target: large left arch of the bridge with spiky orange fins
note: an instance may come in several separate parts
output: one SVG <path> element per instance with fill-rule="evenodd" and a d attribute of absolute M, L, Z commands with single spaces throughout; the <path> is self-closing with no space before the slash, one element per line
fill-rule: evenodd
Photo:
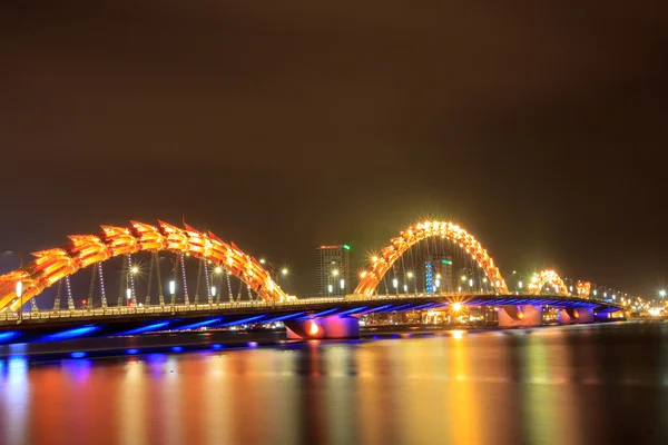
<path fill-rule="evenodd" d="M 90 293 L 97 281 L 99 293 L 101 294 L 101 307 L 108 306 L 105 291 L 105 281 L 101 264 L 115 257 L 124 257 L 124 269 L 128 271 L 128 293 L 130 294 L 129 304 L 137 305 L 135 295 L 135 278 L 138 268 L 132 266 L 131 255 L 140 251 L 150 253 L 151 273 L 155 268 L 157 273 L 158 297 L 163 304 L 161 279 L 159 277 L 160 267 L 156 258 L 158 253 L 176 254 L 176 264 L 173 269 L 174 280 L 178 275 L 183 278 L 183 289 L 185 291 L 184 303 L 189 304 L 188 287 L 186 281 L 186 257 L 200 259 L 202 269 L 198 270 L 198 288 L 200 277 L 204 275 L 208 283 L 210 267 L 217 267 L 218 271 L 225 268 L 227 274 L 239 278 L 248 288 L 248 294 L 256 293 L 264 301 L 282 303 L 287 301 L 288 296 L 274 283 L 267 270 L 252 256 L 244 254 L 234 243 L 227 244 L 216 237 L 214 234 L 203 234 L 193 227 L 185 225 L 185 229 L 159 221 L 159 226 L 150 226 L 143 222 L 131 221 L 131 227 L 101 226 L 102 233 L 99 235 L 72 235 L 70 243 L 66 246 L 41 250 L 32 254 L 36 259 L 22 266 L 18 270 L 0 276 L 0 312 L 16 310 L 22 307 L 28 300 L 32 300 L 35 307 L 35 297 L 40 295 L 46 288 L 56 283 L 66 283 L 68 294 L 68 306 L 71 308 L 71 286 L 69 277 L 75 273 L 91 267 Z M 180 270 L 178 270 L 180 269 Z M 153 279 L 153 275 L 149 276 Z M 150 283 L 150 281 L 149 281 Z M 150 290 L 150 289 L 149 289 Z M 174 297 L 175 289 L 171 289 Z M 197 295 L 198 297 L 197 289 Z M 210 286 L 206 286 L 207 303 L 213 303 Z M 150 295 L 148 295 L 150 296 Z M 59 298 L 57 298 L 59 303 Z M 117 303 L 124 304 L 121 298 Z M 59 307 L 55 307 L 58 309 Z"/>

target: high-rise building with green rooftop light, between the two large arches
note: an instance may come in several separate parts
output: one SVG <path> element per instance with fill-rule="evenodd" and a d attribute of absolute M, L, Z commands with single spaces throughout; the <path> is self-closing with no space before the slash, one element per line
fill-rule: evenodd
<path fill-rule="evenodd" d="M 340 297 L 350 294 L 350 253 L 346 244 L 316 249 L 316 295 Z"/>

